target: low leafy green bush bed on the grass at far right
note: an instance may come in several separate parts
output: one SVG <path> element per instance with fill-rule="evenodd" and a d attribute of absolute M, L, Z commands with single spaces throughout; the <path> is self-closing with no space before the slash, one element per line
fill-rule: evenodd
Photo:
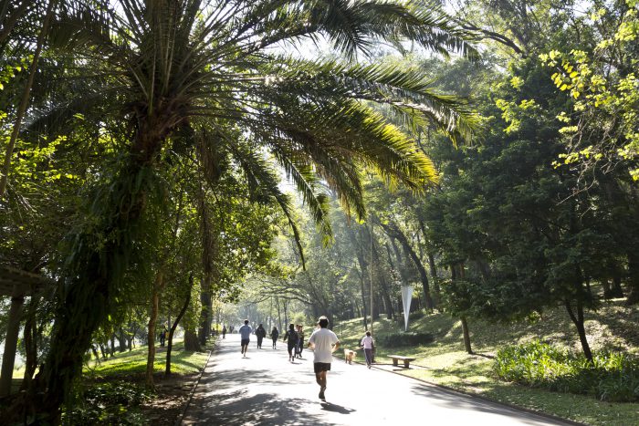
<path fill-rule="evenodd" d="M 493 365 L 500 379 L 600 400 L 639 400 L 639 359 L 601 353 L 592 363 L 583 355 L 539 341 L 499 349 Z"/>

